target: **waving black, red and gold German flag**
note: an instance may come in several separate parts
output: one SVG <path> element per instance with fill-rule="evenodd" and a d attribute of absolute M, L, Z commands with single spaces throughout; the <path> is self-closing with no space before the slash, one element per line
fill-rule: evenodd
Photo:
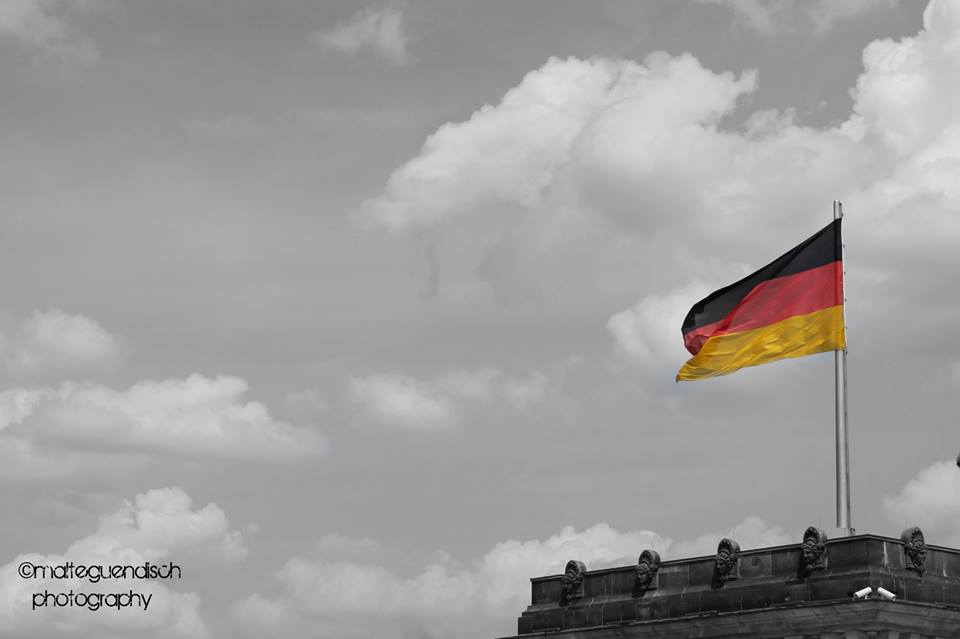
<path fill-rule="evenodd" d="M 693 305 L 677 381 L 846 348 L 840 220 Z"/>

